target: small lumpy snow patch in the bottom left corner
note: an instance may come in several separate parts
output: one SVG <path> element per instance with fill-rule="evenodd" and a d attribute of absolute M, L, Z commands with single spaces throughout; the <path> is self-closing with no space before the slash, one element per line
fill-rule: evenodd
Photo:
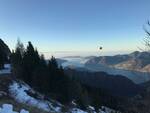
<path fill-rule="evenodd" d="M 0 107 L 0 113 L 19 113 L 19 112 L 13 111 L 13 106 L 11 104 L 3 104 L 2 108 Z M 29 113 L 29 112 L 22 109 L 20 113 Z"/>

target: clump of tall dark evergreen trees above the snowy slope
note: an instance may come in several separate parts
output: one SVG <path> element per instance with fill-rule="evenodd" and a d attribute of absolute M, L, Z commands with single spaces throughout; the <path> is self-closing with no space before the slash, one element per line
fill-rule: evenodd
<path fill-rule="evenodd" d="M 53 56 L 46 63 L 44 56 L 39 55 L 31 42 L 24 49 L 23 44 L 18 41 L 16 50 L 11 54 L 11 64 L 14 77 L 22 79 L 39 92 L 63 103 L 77 98 L 77 83 L 64 73 Z"/>

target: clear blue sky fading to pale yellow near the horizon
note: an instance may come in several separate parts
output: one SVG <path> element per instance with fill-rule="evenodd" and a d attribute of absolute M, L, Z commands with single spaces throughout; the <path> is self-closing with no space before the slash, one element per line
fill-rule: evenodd
<path fill-rule="evenodd" d="M 149 19 L 150 0 L 0 0 L 0 38 L 48 57 L 138 50 Z"/>

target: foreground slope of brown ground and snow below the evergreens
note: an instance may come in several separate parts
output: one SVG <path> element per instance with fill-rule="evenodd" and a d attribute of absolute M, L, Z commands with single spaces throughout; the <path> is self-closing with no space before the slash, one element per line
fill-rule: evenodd
<path fill-rule="evenodd" d="M 81 110 L 74 103 L 72 107 L 62 105 L 56 100 L 45 99 L 44 95 L 34 91 L 30 86 L 20 80 L 15 80 L 11 75 L 0 76 L 0 110 L 3 107 L 14 107 L 19 113 L 96 113 L 92 106 L 88 111 Z M 24 109 L 24 110 L 23 110 Z M 4 109 L 3 109 L 4 110 Z M 10 109 L 11 110 L 11 109 Z M 115 113 L 115 110 L 102 106 L 97 113 Z M 23 113 L 23 112 L 20 112 Z M 120 113 L 120 112 L 118 112 Z"/>

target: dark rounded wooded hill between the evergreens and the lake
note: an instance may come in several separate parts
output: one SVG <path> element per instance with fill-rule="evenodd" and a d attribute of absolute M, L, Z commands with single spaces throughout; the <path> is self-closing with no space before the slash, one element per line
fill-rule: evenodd
<path fill-rule="evenodd" d="M 105 89 L 116 96 L 134 96 L 143 91 L 142 87 L 120 75 L 114 76 L 105 72 L 85 72 L 72 69 L 66 70 L 66 73 L 85 85 Z"/>

